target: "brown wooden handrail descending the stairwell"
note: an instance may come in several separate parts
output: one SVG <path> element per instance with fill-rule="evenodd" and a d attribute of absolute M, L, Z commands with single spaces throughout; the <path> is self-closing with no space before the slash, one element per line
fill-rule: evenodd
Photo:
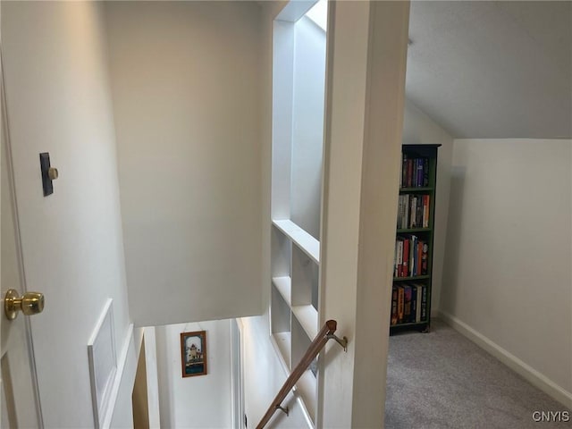
<path fill-rule="evenodd" d="M 260 423 L 257 425 L 257 429 L 262 429 L 265 425 L 270 421 L 270 418 L 273 416 L 274 412 L 277 409 L 282 409 L 281 405 L 282 400 L 286 398 L 290 390 L 298 383 L 304 371 L 307 370 L 307 367 L 310 366 L 312 361 L 318 356 L 318 353 L 321 349 L 324 348 L 325 343 L 328 342 L 331 338 L 334 338 L 333 332 L 336 332 L 338 323 L 335 320 L 328 320 L 320 332 L 315 336 L 314 341 L 310 344 L 310 347 L 306 350 L 306 354 L 301 358 L 299 364 L 294 368 L 294 371 L 291 372 L 290 376 L 286 379 L 284 384 L 282 385 L 282 389 L 278 391 L 276 398 L 270 404 L 270 407 L 266 410 L 266 414 L 260 420 Z M 339 340 L 339 339 L 337 339 Z M 345 339 L 344 339 L 345 340 Z"/>

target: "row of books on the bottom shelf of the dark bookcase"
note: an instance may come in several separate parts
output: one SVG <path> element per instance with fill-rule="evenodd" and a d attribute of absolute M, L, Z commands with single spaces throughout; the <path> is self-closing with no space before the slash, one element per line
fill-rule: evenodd
<path fill-rule="evenodd" d="M 427 286 L 407 283 L 393 286 L 391 325 L 414 324 L 427 320 Z"/>

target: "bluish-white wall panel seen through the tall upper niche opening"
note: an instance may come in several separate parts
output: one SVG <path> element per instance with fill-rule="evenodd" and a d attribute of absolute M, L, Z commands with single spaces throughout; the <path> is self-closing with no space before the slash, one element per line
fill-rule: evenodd
<path fill-rule="evenodd" d="M 293 74 L 290 219 L 320 240 L 325 32 L 306 17 L 294 24 Z"/>

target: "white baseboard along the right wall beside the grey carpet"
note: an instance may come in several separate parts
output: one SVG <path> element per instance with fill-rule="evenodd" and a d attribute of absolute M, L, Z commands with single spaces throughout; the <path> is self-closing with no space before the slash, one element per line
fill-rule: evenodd
<path fill-rule="evenodd" d="M 572 393 L 563 389 L 554 383 L 544 374 L 536 371 L 532 366 L 527 365 L 518 357 L 509 351 L 502 349 L 501 346 L 485 337 L 482 333 L 475 331 L 468 324 L 462 322 L 454 315 L 450 315 L 443 311 L 437 311 L 437 317 L 443 322 L 449 324 L 455 331 L 461 333 L 470 341 L 475 342 L 477 346 L 490 353 L 493 357 L 499 359 L 504 365 L 509 366 L 517 374 L 520 374 L 529 383 L 536 386 L 544 393 L 550 395 L 554 400 L 558 400 L 564 407 L 572 409 Z"/>

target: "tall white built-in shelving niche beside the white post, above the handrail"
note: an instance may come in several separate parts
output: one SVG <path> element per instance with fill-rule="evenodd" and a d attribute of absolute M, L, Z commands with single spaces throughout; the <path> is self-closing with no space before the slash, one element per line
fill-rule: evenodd
<path fill-rule="evenodd" d="M 326 34 L 297 12 L 274 21 L 271 335 L 287 374 L 320 324 L 320 221 Z M 296 16 L 296 19 L 292 18 Z M 294 43 L 295 42 L 295 43 Z M 317 362 L 295 387 L 315 425 Z"/>

